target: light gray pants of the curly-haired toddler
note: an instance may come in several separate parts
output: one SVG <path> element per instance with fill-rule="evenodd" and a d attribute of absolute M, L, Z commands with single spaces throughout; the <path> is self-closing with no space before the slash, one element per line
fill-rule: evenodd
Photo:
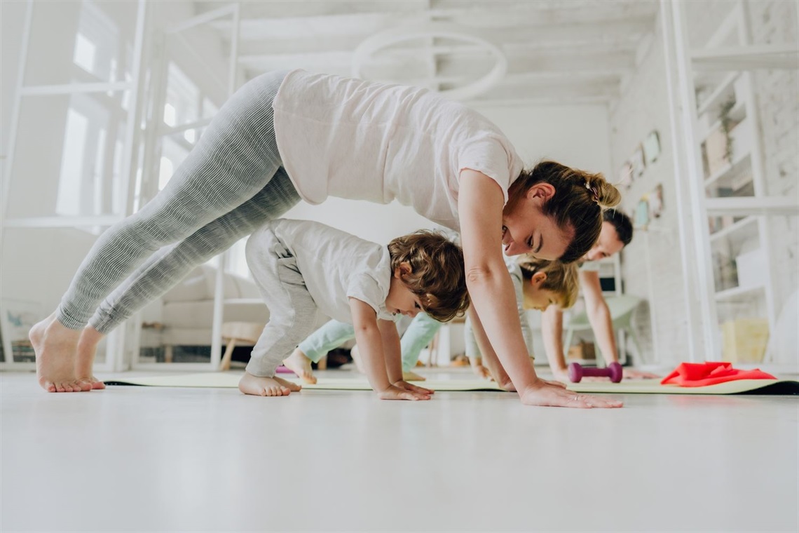
<path fill-rule="evenodd" d="M 247 372 L 272 377 L 297 344 L 315 329 L 316 303 L 305 287 L 296 258 L 272 229 L 258 229 L 247 241 L 247 265 L 269 308 L 269 321 L 252 348 Z"/>

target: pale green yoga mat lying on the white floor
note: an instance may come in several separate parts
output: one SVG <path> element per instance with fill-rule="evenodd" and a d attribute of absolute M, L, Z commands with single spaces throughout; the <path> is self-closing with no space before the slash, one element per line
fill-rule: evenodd
<path fill-rule="evenodd" d="M 217 387 L 237 388 L 241 374 L 232 372 L 202 372 L 198 374 L 130 377 L 124 380 L 109 380 L 106 385 L 145 385 L 149 387 Z M 284 378 L 285 379 L 285 378 Z M 292 381 L 300 383 L 299 378 Z M 368 391 L 371 390 L 363 378 L 319 378 L 314 385 L 300 383 L 304 390 Z M 415 382 L 435 391 L 499 391 L 495 384 L 486 380 L 427 380 Z M 799 381 L 795 380 L 735 380 L 707 387 L 678 387 L 662 385 L 659 380 L 624 380 L 573 383 L 568 386 L 574 392 L 610 392 L 616 394 L 795 394 L 799 395 Z"/>

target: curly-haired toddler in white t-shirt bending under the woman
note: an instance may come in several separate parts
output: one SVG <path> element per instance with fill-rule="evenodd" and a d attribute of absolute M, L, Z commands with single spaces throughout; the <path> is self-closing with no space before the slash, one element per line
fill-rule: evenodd
<path fill-rule="evenodd" d="M 320 308 L 331 318 L 352 322 L 369 384 L 381 399 L 430 399 L 432 391 L 402 379 L 394 320 L 424 311 L 446 321 L 466 311 L 458 245 L 419 231 L 387 247 L 317 222 L 278 219 L 252 233 L 246 255 L 271 316 L 252 348 L 241 392 L 291 392 L 287 381 L 273 377 L 275 369 L 312 332 Z"/>

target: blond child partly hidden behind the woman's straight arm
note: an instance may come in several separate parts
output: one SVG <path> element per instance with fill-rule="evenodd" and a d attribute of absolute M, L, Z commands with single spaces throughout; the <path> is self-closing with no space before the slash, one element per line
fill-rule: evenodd
<path fill-rule="evenodd" d="M 545 261 L 531 256 L 523 256 L 515 266 L 516 268 L 511 268 L 511 265 L 508 265 L 508 270 L 514 281 L 517 300 L 521 302 L 520 309 L 536 309 L 543 312 L 550 305 L 555 305 L 560 309 L 567 309 L 574 305 L 578 294 L 576 265 L 564 265 L 560 261 Z M 524 329 L 524 326 L 527 325 L 527 317 L 520 311 L 519 318 L 522 320 Z M 472 370 L 478 376 L 489 377 L 490 372 L 482 365 L 480 349 L 475 342 L 475 332 L 471 327 L 471 320 L 467 319 L 463 333 L 466 337 L 466 356 Z M 527 350 L 532 359 L 531 344 L 531 342 L 527 343 Z M 496 359 L 493 353 L 489 354 L 489 357 L 491 356 Z"/>

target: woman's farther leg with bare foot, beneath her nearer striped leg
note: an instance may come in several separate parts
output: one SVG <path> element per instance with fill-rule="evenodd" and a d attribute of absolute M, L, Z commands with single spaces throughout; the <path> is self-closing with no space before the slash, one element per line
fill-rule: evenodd
<path fill-rule="evenodd" d="M 300 195 L 281 167 L 264 189 L 244 204 L 203 226 L 184 241 L 158 250 L 149 257 L 103 301 L 89 320 L 89 327 L 81 333 L 75 368 L 78 378 L 91 381 L 93 388 L 100 388 L 100 382 L 92 375 L 92 364 L 97 343 L 103 336 L 172 288 L 197 265 L 229 249 L 239 239 L 264 222 L 280 217 L 299 201 Z"/>

